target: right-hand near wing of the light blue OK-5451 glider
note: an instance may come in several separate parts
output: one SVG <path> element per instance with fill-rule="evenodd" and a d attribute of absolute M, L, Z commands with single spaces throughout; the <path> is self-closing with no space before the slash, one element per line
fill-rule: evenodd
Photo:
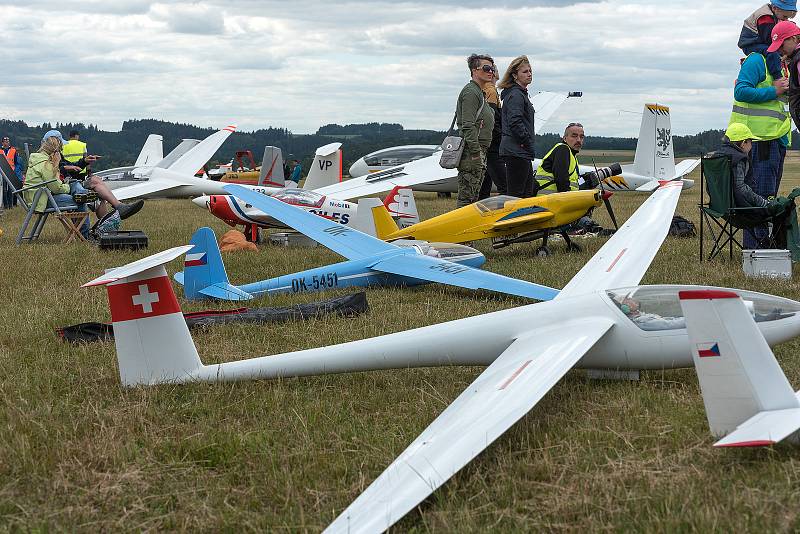
<path fill-rule="evenodd" d="M 475 269 L 440 258 L 421 254 L 405 254 L 379 260 L 371 269 L 400 276 L 410 276 L 429 282 L 439 282 L 468 289 L 488 289 L 520 297 L 552 300 L 558 290 L 525 280 L 509 278 L 482 269 Z"/>

